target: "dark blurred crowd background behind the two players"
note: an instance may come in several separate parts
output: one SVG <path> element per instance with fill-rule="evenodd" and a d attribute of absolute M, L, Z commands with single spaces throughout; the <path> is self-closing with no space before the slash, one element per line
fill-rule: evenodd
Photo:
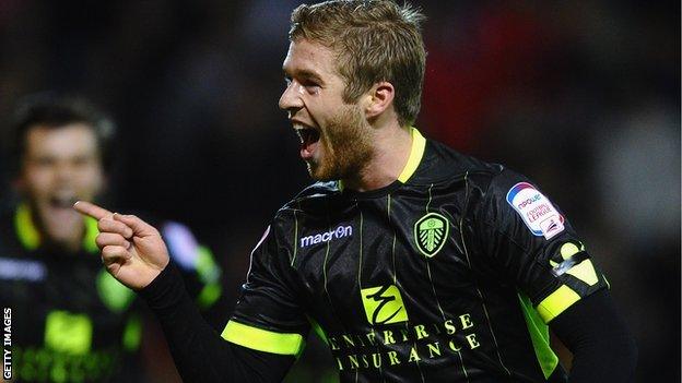
<path fill-rule="evenodd" d="M 418 128 L 540 184 L 611 283 L 638 342 L 637 381 L 678 382 L 680 2 L 413 3 L 428 17 Z M 32 93 L 109 111 L 119 137 L 107 201 L 188 224 L 233 302 L 251 247 L 309 182 L 277 107 L 297 4 L 0 0 L 0 139 Z M 309 340 L 290 381 L 334 382 Z M 162 340 L 148 348 L 165 352 Z M 162 364 L 149 381 L 173 376 Z"/>

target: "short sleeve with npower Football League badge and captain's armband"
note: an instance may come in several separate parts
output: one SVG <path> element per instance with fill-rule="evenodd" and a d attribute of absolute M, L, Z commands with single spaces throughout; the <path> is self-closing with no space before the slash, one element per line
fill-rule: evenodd
<path fill-rule="evenodd" d="M 608 287 L 564 214 L 531 181 L 503 170 L 482 193 L 474 226 L 483 256 L 545 323 Z"/>

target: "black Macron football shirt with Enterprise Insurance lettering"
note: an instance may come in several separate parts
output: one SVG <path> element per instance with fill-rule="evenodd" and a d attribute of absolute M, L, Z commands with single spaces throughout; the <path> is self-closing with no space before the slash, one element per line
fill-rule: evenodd
<path fill-rule="evenodd" d="M 297 355 L 313 327 L 342 382 L 565 382 L 546 323 L 604 277 L 526 178 L 412 137 L 390 185 L 278 212 L 223 337 Z"/>

